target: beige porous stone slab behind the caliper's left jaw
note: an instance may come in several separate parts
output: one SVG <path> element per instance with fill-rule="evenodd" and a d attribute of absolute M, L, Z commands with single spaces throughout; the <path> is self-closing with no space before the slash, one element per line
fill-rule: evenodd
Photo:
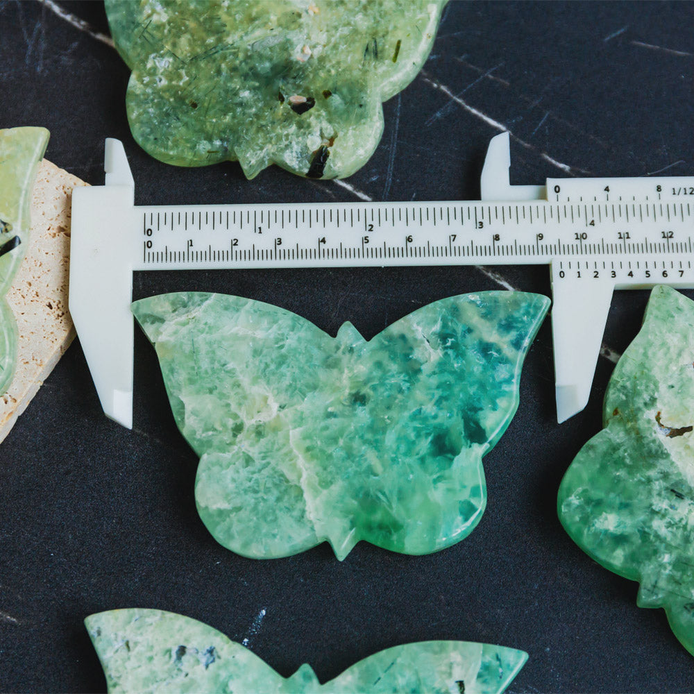
<path fill-rule="evenodd" d="M 75 336 L 67 309 L 72 189 L 87 185 L 47 160 L 31 198 L 29 249 L 7 294 L 19 332 L 17 370 L 0 395 L 0 441 Z"/>

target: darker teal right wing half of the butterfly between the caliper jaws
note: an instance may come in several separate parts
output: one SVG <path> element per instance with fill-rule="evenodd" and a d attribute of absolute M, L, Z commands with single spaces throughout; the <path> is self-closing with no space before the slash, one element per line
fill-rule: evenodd
<path fill-rule="evenodd" d="M 471 532 L 486 502 L 482 456 L 516 412 L 548 304 L 510 291 L 453 296 L 352 341 L 331 417 L 298 441 L 346 471 L 314 501 L 316 516 L 332 514 L 323 534 L 340 558 L 359 539 L 425 554 Z"/>

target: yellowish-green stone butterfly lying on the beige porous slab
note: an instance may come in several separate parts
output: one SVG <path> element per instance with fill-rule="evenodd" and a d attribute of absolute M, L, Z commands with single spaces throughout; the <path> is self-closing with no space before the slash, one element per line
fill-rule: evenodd
<path fill-rule="evenodd" d="M 45 128 L 0 130 L 0 395 L 17 363 L 17 324 L 5 295 L 29 245 L 29 208 L 46 151 Z"/>

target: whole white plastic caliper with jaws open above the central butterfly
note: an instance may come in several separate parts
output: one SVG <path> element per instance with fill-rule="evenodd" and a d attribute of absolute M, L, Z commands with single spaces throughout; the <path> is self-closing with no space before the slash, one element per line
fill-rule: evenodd
<path fill-rule="evenodd" d="M 557 419 L 589 399 L 613 289 L 694 287 L 694 178 L 509 185 L 491 140 L 482 201 L 135 207 L 122 144 L 73 193 L 70 312 L 105 414 L 132 426 L 133 271 L 549 264 Z"/>

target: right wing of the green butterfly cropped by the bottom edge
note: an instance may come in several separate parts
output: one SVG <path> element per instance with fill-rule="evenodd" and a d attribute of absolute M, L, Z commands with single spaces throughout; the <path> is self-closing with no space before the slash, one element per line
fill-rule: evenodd
<path fill-rule="evenodd" d="M 382 650 L 323 686 L 331 694 L 500 694 L 527 653 L 467 641 L 422 641 Z"/>

